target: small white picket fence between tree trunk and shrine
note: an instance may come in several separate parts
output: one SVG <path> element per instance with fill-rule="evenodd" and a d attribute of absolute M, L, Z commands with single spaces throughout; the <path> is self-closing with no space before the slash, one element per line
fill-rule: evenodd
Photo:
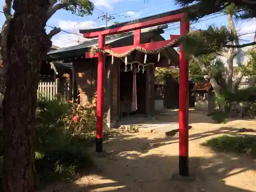
<path fill-rule="evenodd" d="M 48 100 L 53 100 L 57 91 L 57 83 L 56 82 L 39 82 L 37 89 L 37 97 L 45 98 Z"/>

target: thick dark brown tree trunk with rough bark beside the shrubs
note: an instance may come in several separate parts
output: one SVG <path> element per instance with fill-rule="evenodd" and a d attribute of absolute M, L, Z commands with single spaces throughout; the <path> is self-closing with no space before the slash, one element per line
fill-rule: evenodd
<path fill-rule="evenodd" d="M 51 47 L 46 34 L 45 0 L 14 1 L 15 14 L 7 36 L 6 92 L 4 109 L 4 176 L 5 192 L 33 192 L 34 119 L 37 83 L 42 60 Z"/>

